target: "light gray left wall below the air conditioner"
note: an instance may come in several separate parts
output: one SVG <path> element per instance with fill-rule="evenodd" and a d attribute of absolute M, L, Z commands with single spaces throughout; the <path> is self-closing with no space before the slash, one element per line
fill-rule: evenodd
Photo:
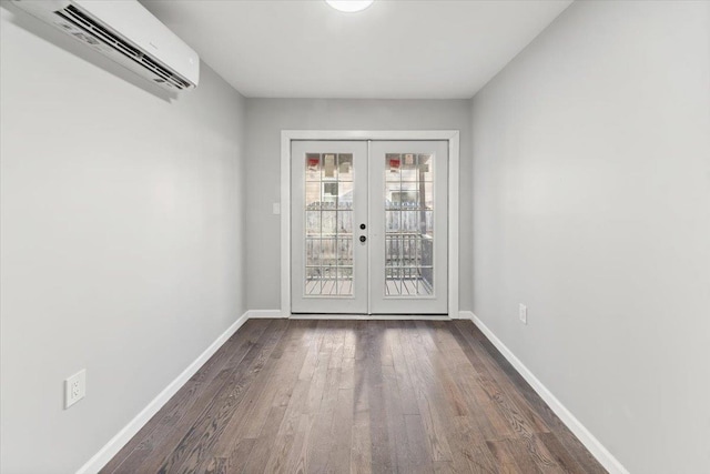
<path fill-rule="evenodd" d="M 244 99 L 203 67 L 165 100 L 0 12 L 1 470 L 69 473 L 246 309 Z"/>

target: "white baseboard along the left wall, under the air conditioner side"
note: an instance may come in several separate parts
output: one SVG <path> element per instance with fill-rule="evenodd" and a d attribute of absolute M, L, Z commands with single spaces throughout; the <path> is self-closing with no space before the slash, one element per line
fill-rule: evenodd
<path fill-rule="evenodd" d="M 248 320 L 248 311 L 242 314 L 226 331 L 224 331 L 202 354 L 197 356 L 175 380 L 173 380 L 148 406 L 113 436 L 97 454 L 93 455 L 77 474 L 98 473 L 116 455 L 123 446 L 149 422 L 155 413 L 192 377 L 195 372 Z"/>

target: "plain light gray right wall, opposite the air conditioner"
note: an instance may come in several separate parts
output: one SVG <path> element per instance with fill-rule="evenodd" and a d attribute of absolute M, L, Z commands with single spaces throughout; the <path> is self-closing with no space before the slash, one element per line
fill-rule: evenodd
<path fill-rule="evenodd" d="M 575 2 L 474 98 L 474 312 L 632 473 L 710 472 L 709 31 Z"/>

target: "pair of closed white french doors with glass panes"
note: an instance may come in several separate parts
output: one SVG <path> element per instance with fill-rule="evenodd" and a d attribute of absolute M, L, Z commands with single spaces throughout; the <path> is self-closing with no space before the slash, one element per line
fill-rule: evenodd
<path fill-rule="evenodd" d="M 293 313 L 447 313 L 447 141 L 292 141 Z"/>

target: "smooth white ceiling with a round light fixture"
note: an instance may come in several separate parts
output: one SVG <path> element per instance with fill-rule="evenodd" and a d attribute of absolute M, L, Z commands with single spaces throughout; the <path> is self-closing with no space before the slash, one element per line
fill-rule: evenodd
<path fill-rule="evenodd" d="M 246 97 L 473 97 L 571 0 L 143 0 Z"/>

